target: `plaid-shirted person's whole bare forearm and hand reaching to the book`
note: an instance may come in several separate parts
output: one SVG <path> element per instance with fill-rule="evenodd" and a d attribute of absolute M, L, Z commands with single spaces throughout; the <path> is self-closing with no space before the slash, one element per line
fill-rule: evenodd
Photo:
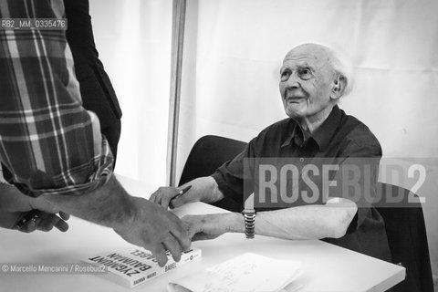
<path fill-rule="evenodd" d="M 150 250 L 160 266 L 167 262 L 166 249 L 178 261 L 181 253 L 190 248 L 185 226 L 176 215 L 156 203 L 131 196 L 113 174 L 90 193 L 43 196 L 68 214 L 110 227 L 130 244 Z"/>

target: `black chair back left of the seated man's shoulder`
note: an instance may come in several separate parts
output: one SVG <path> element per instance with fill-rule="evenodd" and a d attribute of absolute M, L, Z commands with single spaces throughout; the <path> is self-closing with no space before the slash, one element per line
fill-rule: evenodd
<path fill-rule="evenodd" d="M 229 138 L 207 135 L 194 143 L 187 162 L 185 162 L 179 185 L 188 183 L 201 176 L 213 174 L 224 162 L 232 160 L 237 154 L 244 151 L 246 143 Z M 215 206 L 232 212 L 242 211 L 242 205 L 224 198 L 214 203 Z"/>

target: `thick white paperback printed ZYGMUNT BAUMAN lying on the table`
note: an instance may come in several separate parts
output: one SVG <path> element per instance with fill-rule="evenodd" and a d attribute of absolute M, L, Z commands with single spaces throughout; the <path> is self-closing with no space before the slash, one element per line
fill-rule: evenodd
<path fill-rule="evenodd" d="M 201 257 L 198 248 L 183 252 L 181 260 L 175 262 L 172 255 L 167 252 L 168 262 L 165 266 L 158 266 L 157 260 L 147 250 L 133 248 L 125 251 L 113 251 L 100 255 L 89 256 L 82 262 L 96 266 L 105 266 L 108 273 L 101 276 L 110 279 L 124 287 L 136 287 L 168 271 L 183 266 Z M 100 276 L 100 275 L 99 275 Z"/>

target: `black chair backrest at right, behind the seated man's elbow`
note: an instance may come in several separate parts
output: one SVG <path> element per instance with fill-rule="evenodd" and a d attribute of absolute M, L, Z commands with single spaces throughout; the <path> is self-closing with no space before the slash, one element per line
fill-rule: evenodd
<path fill-rule="evenodd" d="M 431 259 L 421 203 L 408 203 L 409 191 L 379 183 L 378 197 L 401 196 L 401 206 L 375 205 L 385 222 L 392 262 L 406 267 L 406 278 L 393 287 L 394 292 L 433 292 Z M 380 193 L 379 193 L 380 192 Z M 409 206 L 407 206 L 409 204 Z"/>

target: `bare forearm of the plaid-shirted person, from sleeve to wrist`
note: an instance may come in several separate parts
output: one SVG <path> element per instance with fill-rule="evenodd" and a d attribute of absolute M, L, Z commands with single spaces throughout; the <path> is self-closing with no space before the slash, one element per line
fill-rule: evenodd
<path fill-rule="evenodd" d="M 80 196 L 48 194 L 43 197 L 60 210 L 81 219 L 120 229 L 135 217 L 135 206 L 115 176 L 99 189 Z"/>

